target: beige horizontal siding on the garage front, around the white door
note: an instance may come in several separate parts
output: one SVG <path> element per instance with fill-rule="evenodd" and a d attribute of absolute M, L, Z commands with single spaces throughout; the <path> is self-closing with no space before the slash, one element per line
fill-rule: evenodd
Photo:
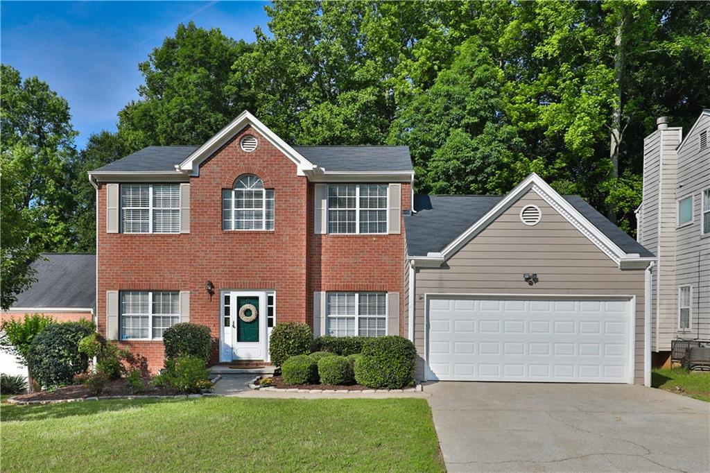
<path fill-rule="evenodd" d="M 537 205 L 542 220 L 520 222 L 525 205 Z M 537 273 L 528 286 L 523 273 Z M 424 376 L 425 294 L 628 295 L 635 296 L 635 380 L 643 383 L 645 271 L 621 271 L 601 249 L 569 224 L 535 192 L 528 192 L 442 268 L 417 268 L 415 345 L 417 376 Z"/>

